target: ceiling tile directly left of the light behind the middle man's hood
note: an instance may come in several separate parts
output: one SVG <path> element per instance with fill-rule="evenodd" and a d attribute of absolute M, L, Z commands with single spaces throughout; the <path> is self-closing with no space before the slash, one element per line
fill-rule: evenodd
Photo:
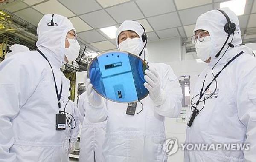
<path fill-rule="evenodd" d="M 77 34 L 78 37 L 82 38 L 88 43 L 93 43 L 93 42 L 99 42 L 102 40 L 107 40 L 105 37 L 103 37 L 101 34 L 99 34 L 97 31 L 92 30 L 92 31 L 85 31 Z"/>

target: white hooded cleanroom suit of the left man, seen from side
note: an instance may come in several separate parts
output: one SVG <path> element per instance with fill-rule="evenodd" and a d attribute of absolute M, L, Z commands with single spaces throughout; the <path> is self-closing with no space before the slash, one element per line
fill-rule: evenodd
<path fill-rule="evenodd" d="M 67 32 L 72 23 L 55 14 L 45 15 L 38 23 L 36 43 L 52 69 L 38 51 L 15 54 L 0 64 L 0 162 L 66 162 L 63 142 L 65 131 L 57 131 L 58 93 L 61 83 L 61 110 L 69 97 L 69 82 L 60 71 L 64 65 Z"/>

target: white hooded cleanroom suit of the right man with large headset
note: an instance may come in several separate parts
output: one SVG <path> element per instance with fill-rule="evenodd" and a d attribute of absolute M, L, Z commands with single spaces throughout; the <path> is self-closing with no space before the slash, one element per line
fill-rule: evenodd
<path fill-rule="evenodd" d="M 223 148 L 211 151 L 185 150 L 185 162 L 255 162 L 256 161 L 256 58 L 247 54 L 240 46 L 241 31 L 235 13 L 223 8 L 231 22 L 236 23 L 234 35 L 230 36 L 218 58 L 215 55 L 220 51 L 227 39 L 224 25 L 227 19 L 218 10 L 208 11 L 198 17 L 194 31 L 205 30 L 211 38 L 211 61 L 199 76 L 192 92 L 192 97 L 199 94 L 205 80 L 204 88 L 212 81 L 213 74 L 217 74 L 224 65 L 239 54 L 244 53 L 231 62 L 217 77 L 215 93 L 205 101 L 202 111 L 195 117 L 191 127 L 187 127 L 186 143 L 206 144 L 244 144 L 250 143 L 250 150 L 224 150 Z M 233 41 L 231 42 L 233 37 Z M 234 47 L 228 48 L 228 43 Z M 228 48 L 228 49 L 227 49 Z M 227 52 L 224 54 L 224 52 Z M 215 81 L 207 89 L 205 98 L 215 90 Z M 203 97 L 204 98 L 204 97 Z M 192 100 L 195 103 L 198 97 Z M 198 105 L 201 109 L 204 103 Z"/>

